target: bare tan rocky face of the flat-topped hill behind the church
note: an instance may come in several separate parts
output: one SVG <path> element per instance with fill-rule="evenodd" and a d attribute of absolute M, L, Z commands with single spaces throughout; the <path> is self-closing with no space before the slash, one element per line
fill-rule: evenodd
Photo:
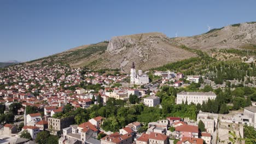
<path fill-rule="evenodd" d="M 98 67 L 120 68 L 128 72 L 135 62 L 136 69 L 147 70 L 195 56 L 195 53 L 172 44 L 162 33 L 124 35 L 109 41 L 104 55 L 106 60 Z"/>

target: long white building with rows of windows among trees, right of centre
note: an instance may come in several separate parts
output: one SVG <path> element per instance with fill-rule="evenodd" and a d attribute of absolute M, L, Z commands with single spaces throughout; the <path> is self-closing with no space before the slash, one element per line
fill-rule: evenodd
<path fill-rule="evenodd" d="M 177 104 L 182 104 L 182 101 L 185 101 L 194 104 L 201 104 L 203 101 L 207 101 L 208 99 L 216 99 L 216 94 L 212 92 L 181 92 L 177 94 Z"/>

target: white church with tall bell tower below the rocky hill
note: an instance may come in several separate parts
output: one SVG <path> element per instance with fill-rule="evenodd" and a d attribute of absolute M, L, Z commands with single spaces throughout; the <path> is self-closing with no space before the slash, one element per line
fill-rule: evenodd
<path fill-rule="evenodd" d="M 144 85 L 149 83 L 149 77 L 147 74 L 143 74 L 142 70 L 138 70 L 138 73 L 136 73 L 135 64 L 132 62 L 131 67 L 131 84 L 136 85 Z"/>

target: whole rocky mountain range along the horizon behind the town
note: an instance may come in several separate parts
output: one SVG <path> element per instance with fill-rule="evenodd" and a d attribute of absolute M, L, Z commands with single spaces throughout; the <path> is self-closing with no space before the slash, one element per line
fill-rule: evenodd
<path fill-rule="evenodd" d="M 165 34 L 141 33 L 113 37 L 110 41 L 75 47 L 33 63 L 68 63 L 71 67 L 123 69 L 129 72 L 132 62 L 147 70 L 164 64 L 197 57 L 182 46 L 211 53 L 213 49 L 256 50 L 256 22 L 238 23 L 211 29 L 193 37 L 168 38 Z"/>

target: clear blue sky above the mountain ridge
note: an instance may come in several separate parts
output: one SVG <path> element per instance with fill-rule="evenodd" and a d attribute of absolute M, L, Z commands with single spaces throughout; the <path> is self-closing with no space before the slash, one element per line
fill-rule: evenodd
<path fill-rule="evenodd" d="M 0 0 L 0 62 L 30 61 L 116 35 L 162 32 L 168 37 L 256 21 L 248 0 Z"/>

